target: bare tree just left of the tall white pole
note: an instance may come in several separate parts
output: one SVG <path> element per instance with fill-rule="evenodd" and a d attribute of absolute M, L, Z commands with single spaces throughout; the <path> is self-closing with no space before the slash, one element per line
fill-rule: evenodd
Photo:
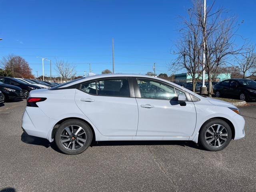
<path fill-rule="evenodd" d="M 185 68 L 192 76 L 192 90 L 195 92 L 196 82 L 202 74 L 202 33 L 194 8 L 188 10 L 188 20 L 183 19 L 184 27 L 180 29 L 180 38 L 175 42 L 174 54 L 177 58 L 170 64 L 169 70 Z"/>

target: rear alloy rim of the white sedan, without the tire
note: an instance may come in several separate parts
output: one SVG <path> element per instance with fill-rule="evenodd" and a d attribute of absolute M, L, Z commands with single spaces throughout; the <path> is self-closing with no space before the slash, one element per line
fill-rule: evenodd
<path fill-rule="evenodd" d="M 60 141 L 66 149 L 78 150 L 86 143 L 86 132 L 81 126 L 70 125 L 62 131 Z"/>

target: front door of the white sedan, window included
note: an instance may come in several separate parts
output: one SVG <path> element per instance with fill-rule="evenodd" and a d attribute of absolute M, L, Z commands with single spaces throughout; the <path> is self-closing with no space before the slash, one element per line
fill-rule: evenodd
<path fill-rule="evenodd" d="M 140 96 L 136 98 L 139 122 L 136 136 L 192 136 L 196 126 L 193 102 L 181 106 L 177 96 L 184 94 L 162 82 L 137 79 Z"/>

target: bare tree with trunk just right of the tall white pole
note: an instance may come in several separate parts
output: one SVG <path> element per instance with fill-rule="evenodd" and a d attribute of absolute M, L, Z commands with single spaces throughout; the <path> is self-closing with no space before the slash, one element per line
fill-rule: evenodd
<path fill-rule="evenodd" d="M 204 22 L 204 8 L 202 0 L 194 1 L 195 14 L 200 21 L 202 36 L 205 42 L 204 53 L 206 56 L 205 66 L 208 72 L 208 96 L 212 96 L 212 79 L 216 76 L 217 69 L 224 63 L 228 63 L 231 56 L 242 52 L 244 46 L 235 44 L 238 24 L 235 17 L 228 17 L 223 8 L 213 10 L 214 2 L 207 7 Z"/>

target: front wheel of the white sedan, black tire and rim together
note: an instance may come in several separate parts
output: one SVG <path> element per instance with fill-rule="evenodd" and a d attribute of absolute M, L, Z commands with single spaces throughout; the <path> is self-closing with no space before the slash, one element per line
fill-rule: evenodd
<path fill-rule="evenodd" d="M 218 132 L 217 132 L 218 131 Z M 221 119 L 210 119 L 199 133 L 199 144 L 208 151 L 220 151 L 228 146 L 232 138 L 230 126 Z"/>

